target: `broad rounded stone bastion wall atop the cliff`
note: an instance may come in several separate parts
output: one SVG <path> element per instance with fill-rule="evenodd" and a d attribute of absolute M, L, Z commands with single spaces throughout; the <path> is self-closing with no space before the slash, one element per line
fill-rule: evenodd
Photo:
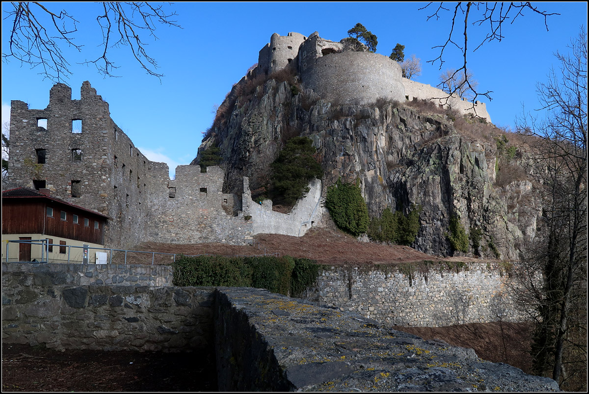
<path fill-rule="evenodd" d="M 401 66 L 370 52 L 331 53 L 313 64 L 303 62 L 303 85 L 326 100 L 368 104 L 378 98 L 405 100 Z"/>

